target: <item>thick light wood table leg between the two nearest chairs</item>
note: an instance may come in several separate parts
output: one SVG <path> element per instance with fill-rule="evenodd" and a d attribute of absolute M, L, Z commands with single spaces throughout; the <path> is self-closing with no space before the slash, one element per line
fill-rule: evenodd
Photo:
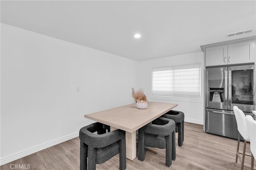
<path fill-rule="evenodd" d="M 110 131 L 114 131 L 117 128 L 110 127 Z M 136 131 L 126 132 L 126 158 L 134 160 L 136 158 Z"/>

